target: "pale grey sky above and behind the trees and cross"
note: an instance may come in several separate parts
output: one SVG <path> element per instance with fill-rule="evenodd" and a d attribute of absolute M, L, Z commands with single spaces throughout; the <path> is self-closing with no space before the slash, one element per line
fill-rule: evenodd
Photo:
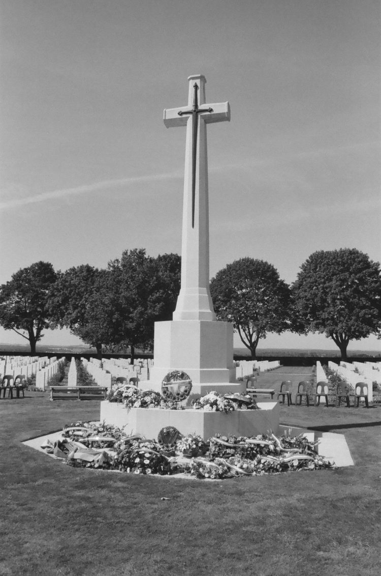
<path fill-rule="evenodd" d="M 291 283 L 320 249 L 380 260 L 378 0 L 0 7 L 0 283 L 38 260 L 66 270 L 136 247 L 180 253 L 185 131 L 167 130 L 163 109 L 186 104 L 197 73 L 207 101 L 231 107 L 230 123 L 208 127 L 211 275 L 251 256 Z M 44 341 L 57 339 L 76 341 Z M 287 334 L 272 345 L 330 346 Z"/>

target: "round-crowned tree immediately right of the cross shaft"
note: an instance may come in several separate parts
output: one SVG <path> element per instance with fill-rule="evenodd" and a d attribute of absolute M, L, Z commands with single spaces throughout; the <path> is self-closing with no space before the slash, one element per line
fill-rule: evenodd
<path fill-rule="evenodd" d="M 211 280 L 210 293 L 218 319 L 233 323 L 252 360 L 260 338 L 289 327 L 290 289 L 268 262 L 235 260 Z"/>

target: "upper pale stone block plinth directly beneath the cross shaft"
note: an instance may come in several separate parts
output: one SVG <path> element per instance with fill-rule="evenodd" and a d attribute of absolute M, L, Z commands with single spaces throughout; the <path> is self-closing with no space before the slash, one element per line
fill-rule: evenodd
<path fill-rule="evenodd" d="M 161 382 L 172 370 L 183 370 L 193 385 L 235 383 L 233 327 L 228 322 L 155 322 L 154 349 L 155 365 L 149 370 L 153 382 Z"/>

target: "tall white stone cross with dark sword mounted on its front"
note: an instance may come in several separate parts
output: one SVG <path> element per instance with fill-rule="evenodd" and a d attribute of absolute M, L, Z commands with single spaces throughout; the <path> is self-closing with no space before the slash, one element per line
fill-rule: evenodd
<path fill-rule="evenodd" d="M 164 110 L 167 128 L 186 126 L 181 289 L 174 320 L 215 320 L 209 290 L 206 124 L 230 120 L 228 102 L 205 104 L 206 79 L 188 77 L 187 107 Z"/>

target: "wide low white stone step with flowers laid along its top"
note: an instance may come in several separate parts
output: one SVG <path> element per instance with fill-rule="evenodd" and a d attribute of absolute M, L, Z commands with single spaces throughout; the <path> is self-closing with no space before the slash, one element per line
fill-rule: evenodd
<path fill-rule="evenodd" d="M 101 422 L 125 429 L 126 434 L 141 434 L 148 439 L 157 439 L 160 430 L 174 426 L 182 434 L 198 434 L 204 440 L 214 434 L 253 436 L 267 434 L 270 430 L 278 434 L 279 403 L 258 403 L 261 410 L 235 410 L 205 412 L 203 410 L 161 410 L 160 408 L 131 408 L 123 404 L 101 402 Z"/>

